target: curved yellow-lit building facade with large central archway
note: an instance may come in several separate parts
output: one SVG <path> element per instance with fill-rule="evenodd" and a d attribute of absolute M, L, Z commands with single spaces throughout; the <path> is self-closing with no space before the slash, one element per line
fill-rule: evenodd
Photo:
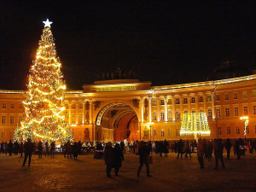
<path fill-rule="evenodd" d="M 23 118 L 25 91 L 0 90 L 0 141 L 9 141 Z M 207 113 L 207 138 L 256 138 L 256 75 L 191 84 L 151 86 L 115 79 L 67 90 L 66 120 L 75 141 L 193 139 L 180 136 L 183 113 Z M 199 136 L 201 137 L 201 136 Z"/>

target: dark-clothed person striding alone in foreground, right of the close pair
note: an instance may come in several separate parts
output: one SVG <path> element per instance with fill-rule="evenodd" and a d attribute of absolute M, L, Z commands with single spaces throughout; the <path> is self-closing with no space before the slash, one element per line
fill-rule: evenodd
<path fill-rule="evenodd" d="M 148 165 L 148 155 L 149 155 L 149 153 L 150 153 L 150 151 L 149 151 L 149 148 L 146 146 L 146 143 L 141 142 L 140 148 L 139 148 L 139 155 L 140 155 L 139 163 L 140 163 L 140 166 L 137 169 L 137 177 L 140 177 L 140 172 L 141 172 L 144 164 L 147 167 L 147 177 L 151 177 L 151 175 L 149 175 L 149 165 Z"/>

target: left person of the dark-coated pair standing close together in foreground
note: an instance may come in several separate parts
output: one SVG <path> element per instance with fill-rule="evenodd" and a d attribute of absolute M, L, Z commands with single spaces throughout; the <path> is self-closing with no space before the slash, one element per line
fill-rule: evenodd
<path fill-rule="evenodd" d="M 110 172 L 113 167 L 114 157 L 113 157 L 112 144 L 110 142 L 106 143 L 106 147 L 104 151 L 104 160 L 105 160 L 105 165 L 107 166 L 106 167 L 107 177 L 111 177 Z"/>

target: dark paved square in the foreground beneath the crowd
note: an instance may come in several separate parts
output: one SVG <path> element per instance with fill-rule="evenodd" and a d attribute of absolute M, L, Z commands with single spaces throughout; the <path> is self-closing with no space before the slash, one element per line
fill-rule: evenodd
<path fill-rule="evenodd" d="M 225 154 L 224 154 L 225 155 Z M 125 154 L 119 177 L 113 172 L 106 177 L 103 160 L 94 160 L 92 154 L 80 155 L 79 160 L 32 156 L 30 167 L 22 167 L 19 156 L 0 155 L 0 191 L 256 191 L 256 154 L 246 154 L 241 160 L 231 155 L 225 160 L 226 169 L 219 165 L 213 170 L 214 160 L 205 159 L 200 169 L 196 154 L 193 158 L 176 159 L 154 156 L 150 174 L 143 167 L 137 177 L 138 156 Z"/>

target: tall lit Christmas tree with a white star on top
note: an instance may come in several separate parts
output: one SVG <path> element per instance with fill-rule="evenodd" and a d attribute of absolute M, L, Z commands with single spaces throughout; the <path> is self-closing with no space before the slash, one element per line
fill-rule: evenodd
<path fill-rule="evenodd" d="M 64 96 L 66 85 L 61 74 L 61 61 L 55 50 L 55 39 L 47 19 L 36 60 L 28 75 L 27 94 L 23 101 L 24 118 L 15 130 L 14 140 L 73 140 L 73 132 L 65 122 Z"/>

